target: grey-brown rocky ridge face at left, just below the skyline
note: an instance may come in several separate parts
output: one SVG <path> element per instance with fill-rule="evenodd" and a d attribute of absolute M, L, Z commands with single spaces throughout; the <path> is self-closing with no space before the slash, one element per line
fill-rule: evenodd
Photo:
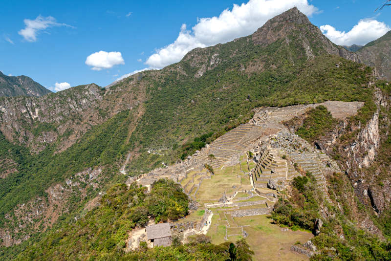
<path fill-rule="evenodd" d="M 109 90 L 90 84 L 42 97 L 2 97 L 0 131 L 9 141 L 29 147 L 33 152 L 40 152 L 59 140 L 61 152 L 91 126 L 137 106 L 144 96 L 143 90 L 131 91 L 126 83 Z"/>

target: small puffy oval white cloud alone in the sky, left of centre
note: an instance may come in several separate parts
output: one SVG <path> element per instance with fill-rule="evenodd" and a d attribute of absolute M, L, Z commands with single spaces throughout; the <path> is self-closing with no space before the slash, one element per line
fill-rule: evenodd
<path fill-rule="evenodd" d="M 109 69 L 114 65 L 124 65 L 121 52 L 99 51 L 87 56 L 86 65 L 92 66 L 92 70 L 100 71 Z"/>

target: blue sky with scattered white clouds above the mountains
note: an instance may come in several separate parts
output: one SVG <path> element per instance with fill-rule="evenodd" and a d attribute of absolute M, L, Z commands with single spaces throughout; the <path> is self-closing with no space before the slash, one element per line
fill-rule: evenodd
<path fill-rule="evenodd" d="M 133 71 L 179 61 L 194 47 L 249 35 L 292 5 L 333 42 L 365 44 L 390 30 L 391 7 L 374 13 L 383 2 L 3 0 L 0 70 L 52 90 L 106 86 Z"/>

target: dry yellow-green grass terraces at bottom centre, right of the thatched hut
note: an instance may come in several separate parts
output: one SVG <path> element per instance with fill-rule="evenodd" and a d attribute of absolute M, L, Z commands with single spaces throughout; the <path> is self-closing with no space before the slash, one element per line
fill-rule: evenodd
<path fill-rule="evenodd" d="M 238 193 L 235 199 L 248 196 L 246 193 Z M 260 196 L 253 196 L 242 202 L 263 200 Z M 268 205 L 274 202 L 268 201 Z M 266 218 L 266 215 L 234 218 L 230 211 L 249 210 L 257 208 L 266 208 L 265 204 L 256 204 L 244 207 L 220 207 L 212 208 L 214 216 L 212 225 L 208 231 L 208 236 L 212 238 L 215 244 L 225 242 L 226 239 L 234 241 L 243 237 L 242 231 L 248 234 L 246 238 L 251 249 L 255 251 L 254 260 L 308 260 L 304 255 L 294 253 L 290 246 L 300 241 L 306 242 L 312 238 L 312 234 L 303 231 L 292 231 L 284 229 L 278 225 L 272 224 L 272 219 Z M 261 244 L 260 244 L 261 242 Z"/>

